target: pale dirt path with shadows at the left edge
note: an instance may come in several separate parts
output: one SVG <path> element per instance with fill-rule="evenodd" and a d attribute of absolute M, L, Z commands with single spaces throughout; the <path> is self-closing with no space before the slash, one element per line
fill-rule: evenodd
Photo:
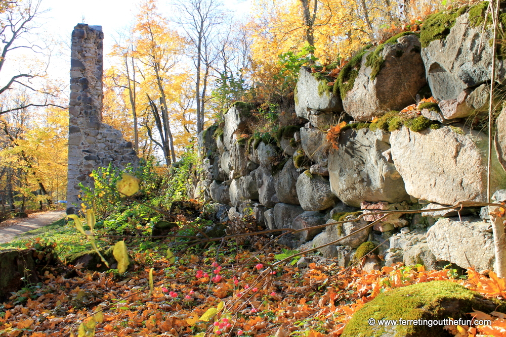
<path fill-rule="evenodd" d="M 5 244 L 29 230 L 52 224 L 64 216 L 65 211 L 49 211 L 30 214 L 24 219 L 8 220 L 5 224 L 0 223 L 0 244 Z"/>

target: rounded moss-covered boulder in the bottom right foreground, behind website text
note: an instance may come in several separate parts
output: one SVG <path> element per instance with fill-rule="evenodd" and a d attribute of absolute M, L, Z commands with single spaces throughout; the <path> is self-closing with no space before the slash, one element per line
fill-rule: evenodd
<path fill-rule="evenodd" d="M 451 336 L 443 325 L 379 325 L 378 320 L 471 319 L 469 312 L 501 311 L 504 304 L 451 282 L 412 284 L 378 295 L 358 310 L 342 337 L 434 337 Z M 374 321 L 374 322 L 373 322 Z M 373 324 L 370 324 L 373 323 Z"/>

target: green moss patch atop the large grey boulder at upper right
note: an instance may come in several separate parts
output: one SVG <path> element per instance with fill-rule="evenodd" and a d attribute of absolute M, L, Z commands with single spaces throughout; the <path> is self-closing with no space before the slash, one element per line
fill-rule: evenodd
<path fill-rule="evenodd" d="M 455 20 L 466 13 L 468 7 L 464 6 L 450 11 L 443 11 L 429 15 L 420 30 L 420 42 L 422 47 L 427 47 L 434 40 L 446 38 Z"/>

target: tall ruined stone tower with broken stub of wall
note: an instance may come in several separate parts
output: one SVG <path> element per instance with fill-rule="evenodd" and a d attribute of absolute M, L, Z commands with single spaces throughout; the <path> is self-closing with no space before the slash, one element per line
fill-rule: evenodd
<path fill-rule="evenodd" d="M 132 142 L 102 123 L 103 39 L 102 26 L 81 23 L 72 31 L 67 214 L 80 208 L 79 183 L 92 186 L 93 170 L 111 163 L 124 168 L 139 161 Z"/>

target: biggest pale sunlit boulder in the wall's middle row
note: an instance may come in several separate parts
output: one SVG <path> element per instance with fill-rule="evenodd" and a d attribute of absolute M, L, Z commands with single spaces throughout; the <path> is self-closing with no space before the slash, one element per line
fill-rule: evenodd
<path fill-rule="evenodd" d="M 486 200 L 486 136 L 473 130 L 441 127 L 392 132 L 392 159 L 406 191 L 442 205 Z M 504 185 L 504 172 L 492 165 L 492 189 Z"/>

